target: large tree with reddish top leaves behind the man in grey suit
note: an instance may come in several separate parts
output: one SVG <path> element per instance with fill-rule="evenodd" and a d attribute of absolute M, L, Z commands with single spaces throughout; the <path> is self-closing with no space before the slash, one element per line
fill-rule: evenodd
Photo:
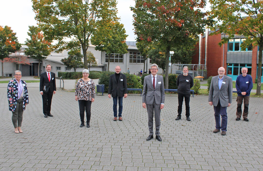
<path fill-rule="evenodd" d="M 176 44 L 196 37 L 209 24 L 201 12 L 206 1 L 202 0 L 135 0 L 134 29 L 139 39 L 160 43 L 165 49 L 165 68 L 169 68 L 170 50 Z M 168 72 L 165 72 L 165 88 L 168 88 Z"/>

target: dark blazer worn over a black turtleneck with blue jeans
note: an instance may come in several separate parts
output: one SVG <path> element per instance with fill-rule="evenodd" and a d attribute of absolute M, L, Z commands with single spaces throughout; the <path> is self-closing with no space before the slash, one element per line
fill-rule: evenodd
<path fill-rule="evenodd" d="M 112 97 L 116 97 L 116 95 L 118 97 L 123 97 L 124 94 L 127 93 L 128 90 L 126 76 L 120 73 L 120 77 L 117 82 L 115 73 L 110 75 L 108 94 L 112 94 Z"/>

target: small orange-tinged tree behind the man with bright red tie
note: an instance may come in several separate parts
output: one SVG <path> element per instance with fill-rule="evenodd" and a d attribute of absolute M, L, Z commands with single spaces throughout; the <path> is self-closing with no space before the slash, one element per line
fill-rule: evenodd
<path fill-rule="evenodd" d="M 25 54 L 30 56 L 31 58 L 38 59 L 38 76 L 40 75 L 40 62 L 42 59 L 46 59 L 50 54 L 51 45 L 48 42 L 41 29 L 36 26 L 29 26 L 29 32 L 27 34 L 30 36 L 30 39 L 26 39 L 26 45 L 28 49 L 25 50 Z"/>

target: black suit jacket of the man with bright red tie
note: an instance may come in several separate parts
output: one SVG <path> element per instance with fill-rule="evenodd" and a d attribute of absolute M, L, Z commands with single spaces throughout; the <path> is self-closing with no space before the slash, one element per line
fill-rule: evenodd
<path fill-rule="evenodd" d="M 40 91 L 43 91 L 44 93 L 50 91 L 56 91 L 56 78 L 55 73 L 50 72 L 50 82 L 48 80 L 47 72 L 43 72 L 40 75 Z"/>

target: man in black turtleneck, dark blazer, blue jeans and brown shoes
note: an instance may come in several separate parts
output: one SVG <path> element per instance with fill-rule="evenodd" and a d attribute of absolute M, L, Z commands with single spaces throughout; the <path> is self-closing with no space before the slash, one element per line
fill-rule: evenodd
<path fill-rule="evenodd" d="M 126 76 L 120 73 L 120 66 L 115 67 L 115 74 L 110 76 L 109 80 L 109 91 L 108 97 L 110 98 L 110 94 L 113 98 L 113 121 L 117 121 L 117 102 L 119 100 L 119 121 L 122 121 L 122 99 L 123 97 L 127 97 L 127 81 Z"/>

